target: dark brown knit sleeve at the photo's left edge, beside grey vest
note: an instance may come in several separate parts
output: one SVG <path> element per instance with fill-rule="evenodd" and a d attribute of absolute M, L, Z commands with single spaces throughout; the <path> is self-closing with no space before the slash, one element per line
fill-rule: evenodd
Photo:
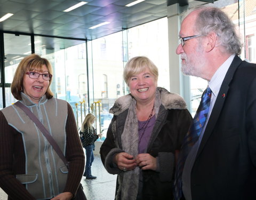
<path fill-rule="evenodd" d="M 25 156 L 21 134 L 11 127 L 0 111 L 0 187 L 9 196 L 9 199 L 34 200 L 25 186 L 18 181 L 14 174 L 23 171 Z M 14 164 L 14 157 L 17 165 Z M 14 166 L 15 165 L 15 166 Z"/>

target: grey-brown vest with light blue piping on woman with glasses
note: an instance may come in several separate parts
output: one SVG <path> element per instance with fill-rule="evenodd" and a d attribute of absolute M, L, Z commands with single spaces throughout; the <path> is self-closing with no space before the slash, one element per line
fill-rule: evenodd
<path fill-rule="evenodd" d="M 65 155 L 67 102 L 59 99 L 46 99 L 33 103 L 22 93 L 22 101 L 50 132 Z M 17 106 L 1 110 L 8 124 L 23 138 L 26 157 L 26 174 L 18 174 L 17 179 L 25 184 L 36 199 L 49 199 L 63 192 L 68 169 L 54 151 L 42 132 L 33 121 Z"/>

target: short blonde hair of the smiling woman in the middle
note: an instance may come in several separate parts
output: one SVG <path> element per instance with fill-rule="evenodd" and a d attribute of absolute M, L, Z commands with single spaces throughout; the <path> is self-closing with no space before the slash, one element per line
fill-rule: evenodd
<path fill-rule="evenodd" d="M 142 71 L 144 71 L 146 68 L 149 69 L 149 71 L 154 75 L 156 82 L 158 79 L 158 69 L 156 65 L 149 60 L 145 56 L 138 56 L 131 58 L 125 65 L 124 68 L 124 81 L 127 85 L 129 82 L 129 78 L 131 78 L 135 74 L 140 74 Z"/>

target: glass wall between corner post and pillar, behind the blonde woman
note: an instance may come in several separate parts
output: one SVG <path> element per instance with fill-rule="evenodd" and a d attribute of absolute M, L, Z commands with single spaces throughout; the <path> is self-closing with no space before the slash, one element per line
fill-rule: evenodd
<path fill-rule="evenodd" d="M 167 18 L 163 18 L 92 41 L 94 107 L 100 109 L 97 128 L 103 137 L 113 117 L 109 109 L 118 97 L 129 93 L 123 68 L 130 58 L 145 55 L 151 59 L 159 70 L 158 86 L 169 90 L 167 33 Z M 94 115 L 99 118 L 97 111 Z"/>

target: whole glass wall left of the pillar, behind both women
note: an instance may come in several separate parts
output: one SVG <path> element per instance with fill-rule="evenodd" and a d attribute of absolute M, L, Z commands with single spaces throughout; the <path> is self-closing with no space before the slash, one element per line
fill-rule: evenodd
<path fill-rule="evenodd" d="M 5 83 L 9 85 L 5 88 L 6 106 L 16 101 L 10 85 L 19 61 L 31 54 L 31 37 L 4 34 Z M 130 58 L 146 55 L 153 60 L 161 77 L 158 85 L 169 89 L 167 40 L 167 18 L 87 43 L 54 37 L 33 38 L 35 53 L 48 59 L 53 67 L 54 97 L 70 103 L 78 127 L 87 113 L 93 113 L 97 117 L 95 127 L 103 136 L 113 117 L 109 109 L 118 97 L 129 93 L 123 81 L 123 68 Z"/>

